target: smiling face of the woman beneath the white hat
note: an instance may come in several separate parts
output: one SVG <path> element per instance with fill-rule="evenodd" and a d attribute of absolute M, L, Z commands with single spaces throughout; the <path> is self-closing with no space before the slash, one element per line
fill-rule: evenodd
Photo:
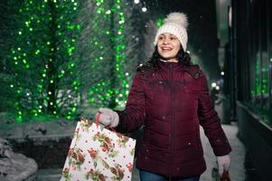
<path fill-rule="evenodd" d="M 177 61 L 177 53 L 181 49 L 181 43 L 171 33 L 161 33 L 158 38 L 157 49 L 159 54 L 168 62 Z"/>

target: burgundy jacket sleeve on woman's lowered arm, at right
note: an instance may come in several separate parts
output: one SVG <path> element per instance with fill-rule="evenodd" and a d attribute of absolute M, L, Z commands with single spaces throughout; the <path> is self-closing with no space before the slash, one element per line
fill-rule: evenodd
<path fill-rule="evenodd" d="M 202 94 L 198 103 L 200 124 L 204 129 L 206 137 L 209 138 L 215 156 L 227 155 L 231 151 L 230 143 L 221 128 L 220 118 L 214 110 L 205 75 L 202 76 L 201 82 Z"/>

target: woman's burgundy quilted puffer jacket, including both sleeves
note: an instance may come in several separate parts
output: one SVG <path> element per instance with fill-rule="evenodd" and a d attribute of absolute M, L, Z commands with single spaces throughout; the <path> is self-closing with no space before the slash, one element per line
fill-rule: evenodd
<path fill-rule="evenodd" d="M 230 144 L 211 102 L 207 80 L 198 65 L 158 62 L 140 68 L 125 110 L 117 111 L 117 131 L 145 126 L 136 166 L 169 177 L 198 176 L 206 169 L 200 126 L 216 156 L 230 153 Z"/>

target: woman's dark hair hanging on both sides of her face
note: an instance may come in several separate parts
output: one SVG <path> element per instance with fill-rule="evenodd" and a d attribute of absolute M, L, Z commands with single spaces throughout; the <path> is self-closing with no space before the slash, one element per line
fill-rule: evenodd
<path fill-rule="evenodd" d="M 185 66 L 192 65 L 190 54 L 188 52 L 184 52 L 182 47 L 180 51 L 177 53 L 177 58 L 178 58 L 178 61 L 181 62 Z M 149 68 L 157 67 L 157 62 L 159 61 L 159 59 L 164 59 L 164 58 L 159 54 L 157 50 L 157 45 L 155 45 L 155 51 L 153 52 L 149 61 L 146 62 L 147 67 Z"/>

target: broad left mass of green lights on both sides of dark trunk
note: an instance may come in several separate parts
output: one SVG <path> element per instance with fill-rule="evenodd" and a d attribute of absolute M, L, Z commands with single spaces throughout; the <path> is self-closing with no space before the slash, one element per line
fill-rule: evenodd
<path fill-rule="evenodd" d="M 71 83 L 72 96 L 67 95 L 71 101 L 65 106 L 62 105 L 65 110 L 61 110 L 60 106 L 63 98 L 59 98 L 56 94 L 60 88 L 58 83 L 69 81 L 74 74 L 75 62 L 72 60 L 72 55 L 76 49 L 76 40 L 70 38 L 70 34 L 74 33 L 72 37 L 76 36 L 80 26 L 70 24 L 69 15 L 75 14 L 72 11 L 77 11 L 78 3 L 74 0 L 67 2 L 63 0 L 62 3 L 57 3 L 56 0 L 25 0 L 23 5 L 19 11 L 22 26 L 14 37 L 17 43 L 12 48 L 14 81 L 10 84 L 16 98 L 14 108 L 17 112 L 17 122 L 48 113 L 57 117 L 66 115 L 67 119 L 71 119 L 77 108 L 72 96 L 77 97 L 79 81 L 73 79 Z M 53 19 L 58 17 L 52 14 L 58 12 L 62 13 L 60 19 Z M 49 27 L 56 30 L 56 35 L 48 29 Z M 61 52 L 62 60 L 56 58 L 58 57 L 56 54 Z M 63 60 L 68 62 L 67 69 L 64 69 Z M 59 66 L 63 69 L 59 70 Z M 51 72 L 52 69 L 54 72 Z M 27 75 L 31 77 L 24 78 Z M 48 90 L 51 86 L 52 89 Z M 50 107 L 51 111 L 49 111 Z"/>

